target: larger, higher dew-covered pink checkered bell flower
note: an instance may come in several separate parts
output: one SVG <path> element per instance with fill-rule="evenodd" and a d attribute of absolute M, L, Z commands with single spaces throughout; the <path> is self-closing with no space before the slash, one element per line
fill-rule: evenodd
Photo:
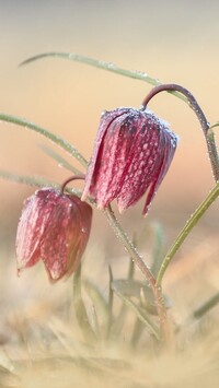
<path fill-rule="evenodd" d="M 82 200 L 90 193 L 99 209 L 114 199 L 120 212 L 147 191 L 143 215 L 163 180 L 177 137 L 149 109 L 117 108 L 103 114 Z"/>

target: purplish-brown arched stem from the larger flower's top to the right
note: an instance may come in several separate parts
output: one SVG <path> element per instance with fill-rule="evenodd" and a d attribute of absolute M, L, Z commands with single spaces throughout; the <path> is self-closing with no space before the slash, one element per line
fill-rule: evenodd
<path fill-rule="evenodd" d="M 215 177 L 215 180 L 218 181 L 219 180 L 219 157 L 218 157 L 218 152 L 217 152 L 217 148 L 216 148 L 216 143 L 215 143 L 215 138 L 214 136 L 210 133 L 210 136 L 208 136 L 208 129 L 209 129 L 209 122 L 206 119 L 206 116 L 204 114 L 204 111 L 201 110 L 200 106 L 198 105 L 197 101 L 195 99 L 195 97 L 193 96 L 193 94 L 191 92 L 188 92 L 185 87 L 180 86 L 177 84 L 163 84 L 163 85 L 159 85 L 153 87 L 149 94 L 146 96 L 146 98 L 142 102 L 142 108 L 146 109 L 149 101 L 158 93 L 163 92 L 163 91 L 176 91 L 182 93 L 188 101 L 189 106 L 192 107 L 192 109 L 195 111 L 205 139 L 206 139 L 206 143 L 207 143 L 207 149 L 208 149 L 208 154 L 209 154 L 209 158 L 210 158 L 210 163 L 211 163 L 211 168 L 212 168 L 212 174 Z"/>

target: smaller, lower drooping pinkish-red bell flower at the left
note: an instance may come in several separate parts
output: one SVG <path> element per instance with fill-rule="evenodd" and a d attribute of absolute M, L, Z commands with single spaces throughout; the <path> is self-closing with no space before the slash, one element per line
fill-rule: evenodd
<path fill-rule="evenodd" d="M 91 230 L 92 208 L 53 188 L 27 198 L 18 226 L 18 269 L 44 261 L 50 280 L 76 271 Z"/>

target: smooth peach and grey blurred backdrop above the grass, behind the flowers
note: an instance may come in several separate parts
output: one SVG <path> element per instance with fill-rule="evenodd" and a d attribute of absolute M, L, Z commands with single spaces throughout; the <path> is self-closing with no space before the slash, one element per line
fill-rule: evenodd
<path fill-rule="evenodd" d="M 216 0 L 210 7 L 204 0 L 0 0 L 0 110 L 62 136 L 89 158 L 101 111 L 139 107 L 151 89 L 140 81 L 54 58 L 18 67 L 30 56 L 57 50 L 115 62 L 165 83 L 178 83 L 195 95 L 214 124 L 219 120 L 218 12 Z M 148 220 L 158 220 L 168 240 L 172 240 L 209 192 L 214 179 L 192 109 L 165 93 L 153 98 L 150 108 L 171 124 L 180 136 L 180 145 L 149 217 L 140 217 L 141 201 L 123 220 L 130 231 Z M 0 138 L 1 169 L 43 175 L 56 181 L 68 177 L 69 173 L 38 148 L 46 144 L 58 151 L 44 138 L 3 122 Z M 33 188 L 1 180 L 1 244 L 12 252 L 22 202 L 31 192 Z M 97 237 L 104 239 L 101 244 L 110 256 L 113 248 L 107 242 L 113 235 L 103 215 L 95 214 L 95 220 L 104 227 L 93 228 L 91 244 Z M 217 231 L 218 204 L 209 210 L 192 239 L 198 244 Z"/>

